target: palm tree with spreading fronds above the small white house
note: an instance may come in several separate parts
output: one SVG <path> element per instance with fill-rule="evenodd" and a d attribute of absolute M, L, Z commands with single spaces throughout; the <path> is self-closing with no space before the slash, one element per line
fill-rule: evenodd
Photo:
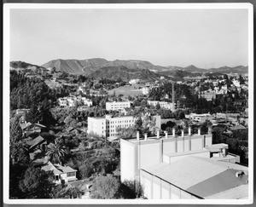
<path fill-rule="evenodd" d="M 67 148 L 61 140 L 56 139 L 55 143 L 49 143 L 46 155 L 49 156 L 49 159 L 52 162 L 62 164 L 65 156 L 67 155 Z"/>

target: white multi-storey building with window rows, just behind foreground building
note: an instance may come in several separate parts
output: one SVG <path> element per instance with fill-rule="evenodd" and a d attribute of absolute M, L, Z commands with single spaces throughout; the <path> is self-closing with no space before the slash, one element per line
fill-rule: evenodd
<path fill-rule="evenodd" d="M 160 116 L 155 118 L 155 127 L 160 129 Z M 93 133 L 102 137 L 116 137 L 119 135 L 118 128 L 128 128 L 135 124 L 137 118 L 133 116 L 112 117 L 106 115 L 104 118 L 88 118 L 87 133 Z"/>

